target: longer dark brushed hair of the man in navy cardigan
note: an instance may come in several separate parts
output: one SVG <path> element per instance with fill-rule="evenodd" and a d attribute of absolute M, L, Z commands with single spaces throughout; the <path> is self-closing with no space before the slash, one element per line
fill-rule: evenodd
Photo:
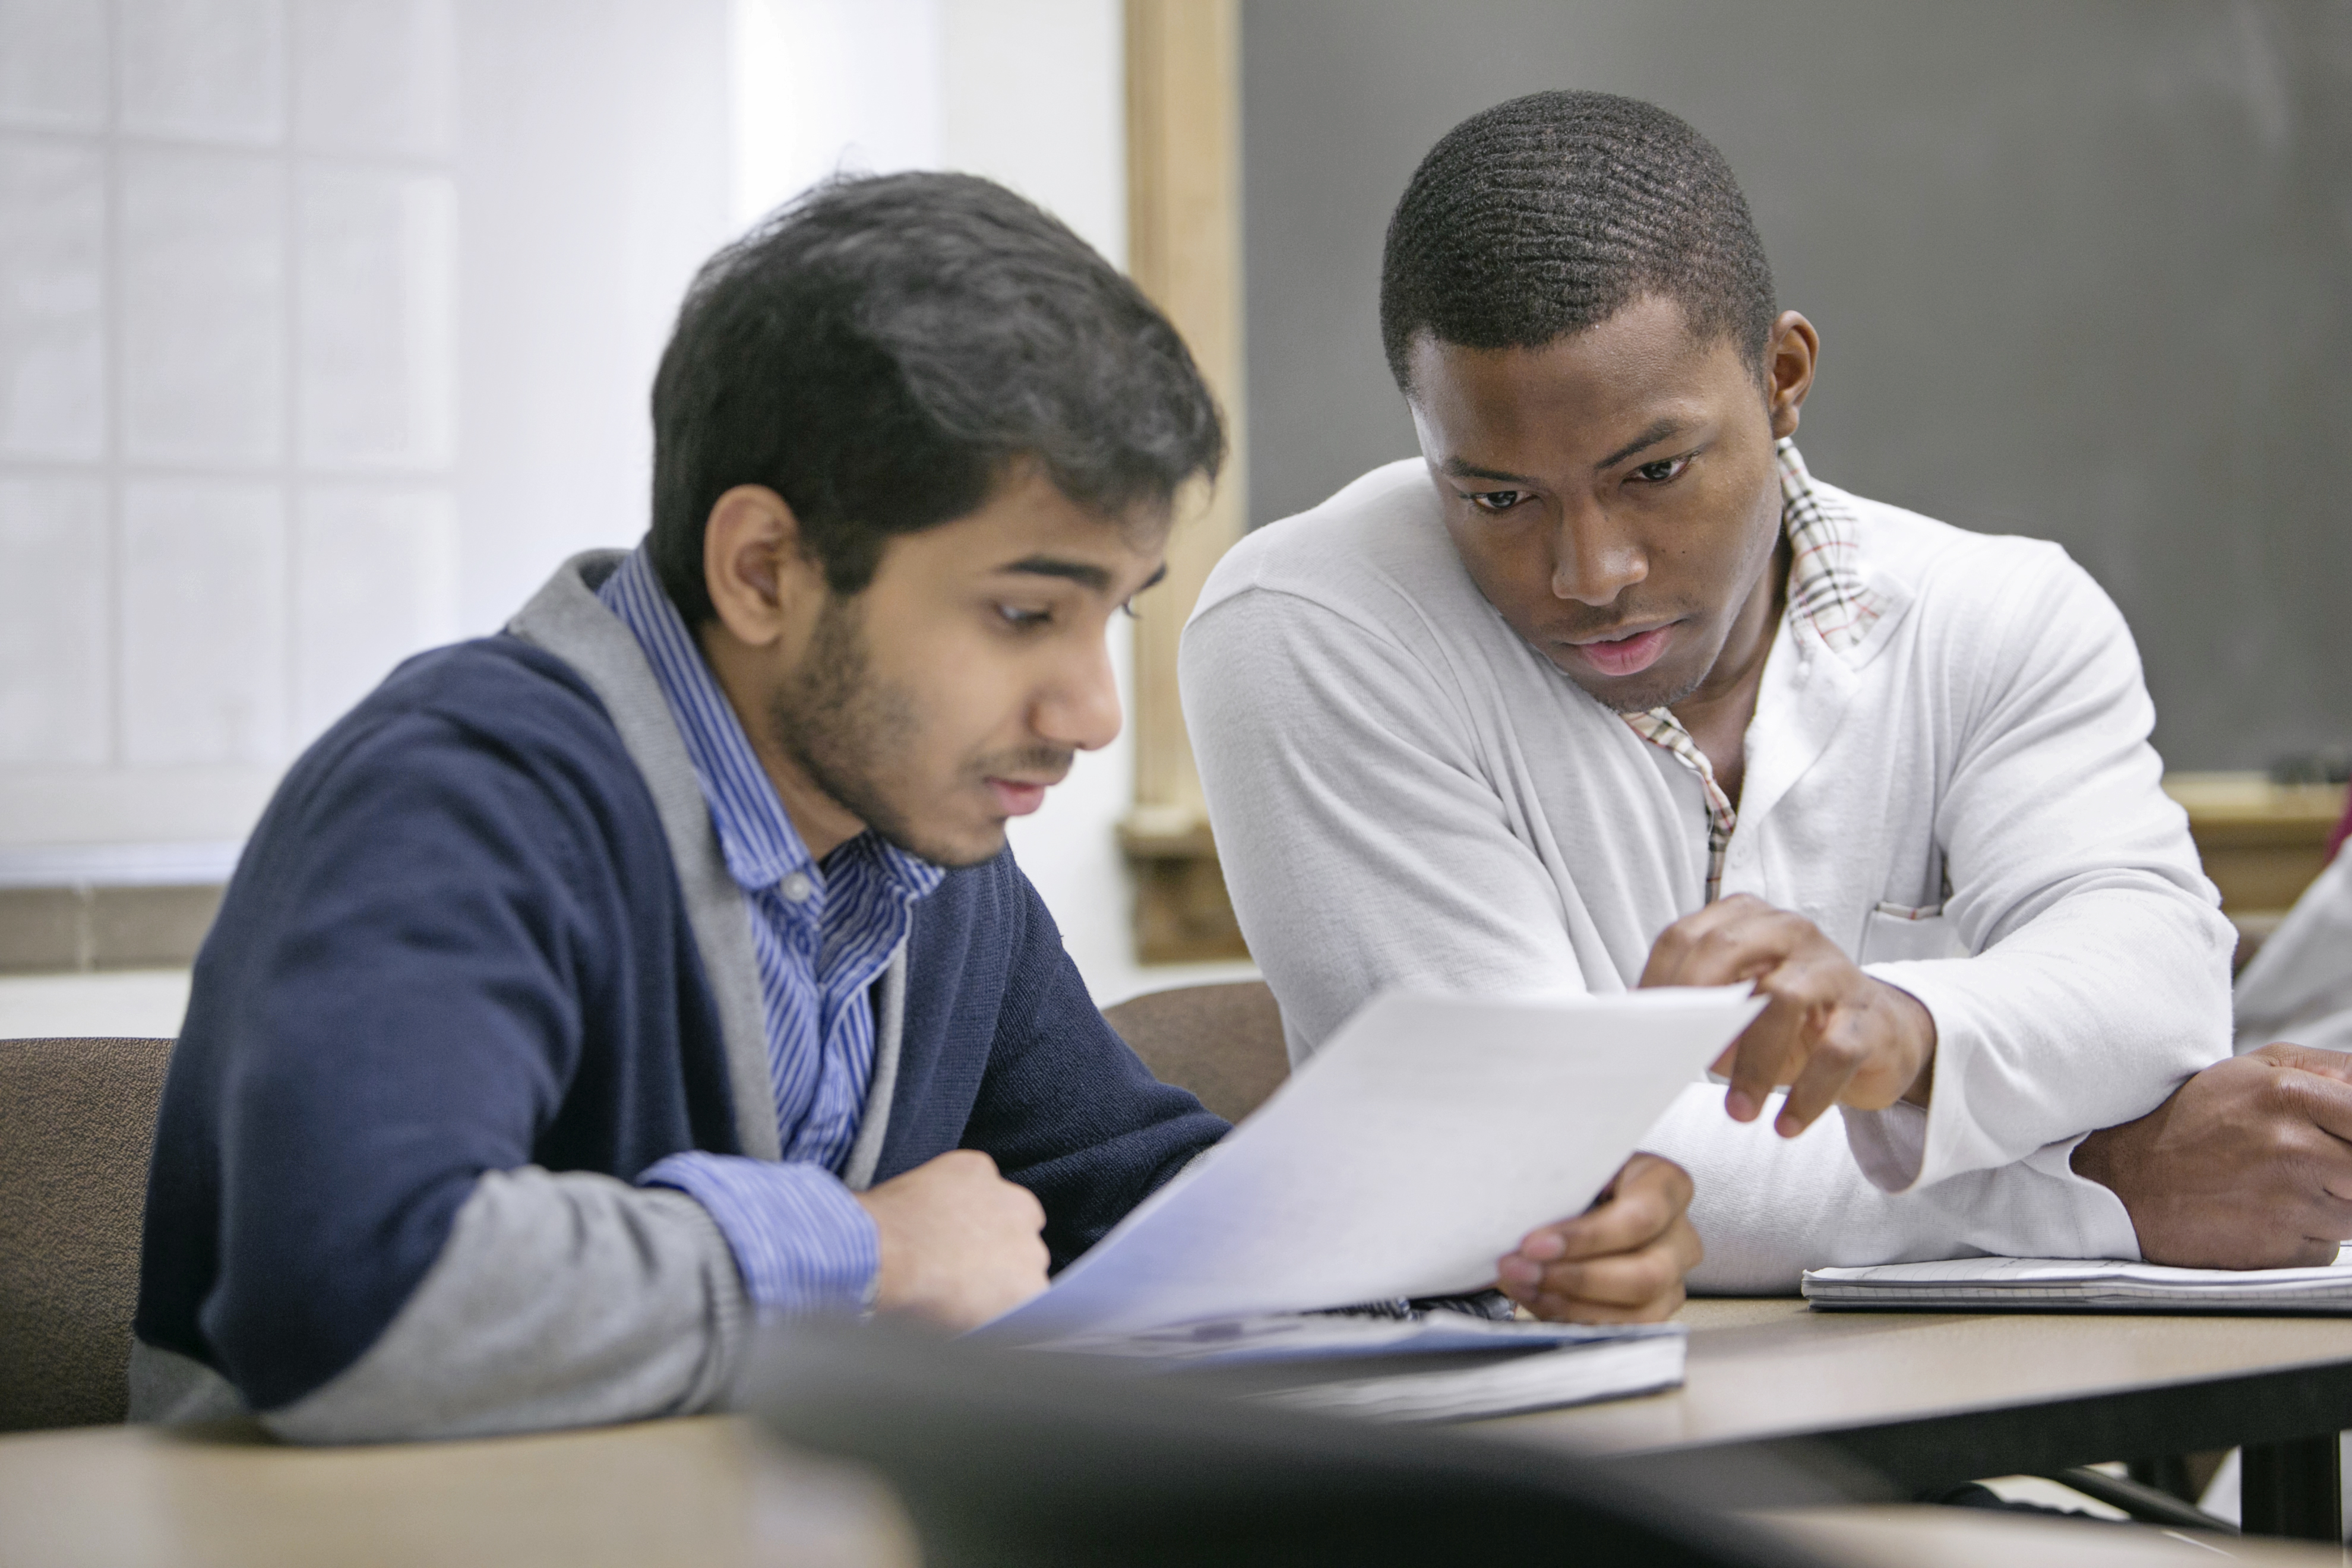
<path fill-rule="evenodd" d="M 790 503 L 847 597 L 891 536 L 978 510 L 1023 458 L 1124 517 L 1223 454 L 1183 339 L 1061 221 L 971 174 L 835 179 L 687 289 L 654 376 L 652 557 L 699 625 L 736 484 Z"/>

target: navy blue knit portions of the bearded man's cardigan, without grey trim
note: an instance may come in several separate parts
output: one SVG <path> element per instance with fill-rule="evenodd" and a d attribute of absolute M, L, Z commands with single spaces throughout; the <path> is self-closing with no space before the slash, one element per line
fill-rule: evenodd
<path fill-rule="evenodd" d="M 668 842 L 553 654 L 423 654 L 313 745 L 195 961 L 148 1178 L 136 1333 L 301 1399 L 390 1324 L 485 1171 L 736 1154 Z M 1054 1267 L 1225 1124 L 1087 997 L 1011 853 L 917 905 L 875 1180 L 985 1150 Z"/>

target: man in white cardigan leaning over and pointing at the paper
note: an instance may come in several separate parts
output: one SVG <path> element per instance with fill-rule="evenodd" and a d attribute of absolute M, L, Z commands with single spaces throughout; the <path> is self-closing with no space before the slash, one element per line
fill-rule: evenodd
<path fill-rule="evenodd" d="M 1237 545 L 1181 663 L 1294 1060 L 1383 985 L 1771 997 L 1505 1291 L 1670 1312 L 1684 1171 L 1693 1288 L 2352 1234 L 2352 1084 L 2213 1067 L 2234 933 L 2122 616 L 1806 473 L 1818 334 L 1712 146 L 1606 94 L 1468 120 L 1381 317 L 1423 456 Z"/>

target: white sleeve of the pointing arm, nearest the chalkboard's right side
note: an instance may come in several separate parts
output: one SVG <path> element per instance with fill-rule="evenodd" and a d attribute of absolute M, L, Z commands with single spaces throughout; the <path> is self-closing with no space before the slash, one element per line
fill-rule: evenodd
<path fill-rule="evenodd" d="M 1844 1112 L 1889 1190 L 2131 1121 L 2230 1053 L 2237 933 L 2164 795 L 2124 616 L 2051 548 L 1947 635 L 1966 701 L 1936 842 L 1971 957 L 1863 964 L 1936 1018 L 1929 1112 Z"/>

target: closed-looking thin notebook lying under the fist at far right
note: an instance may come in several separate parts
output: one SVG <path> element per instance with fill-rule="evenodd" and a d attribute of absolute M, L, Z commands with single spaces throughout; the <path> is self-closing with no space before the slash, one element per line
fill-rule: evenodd
<path fill-rule="evenodd" d="M 2166 1269 L 2082 1258 L 1955 1258 L 1806 1269 L 1804 1295 L 1846 1312 L 2352 1312 L 2352 1253 L 2310 1269 Z"/>

